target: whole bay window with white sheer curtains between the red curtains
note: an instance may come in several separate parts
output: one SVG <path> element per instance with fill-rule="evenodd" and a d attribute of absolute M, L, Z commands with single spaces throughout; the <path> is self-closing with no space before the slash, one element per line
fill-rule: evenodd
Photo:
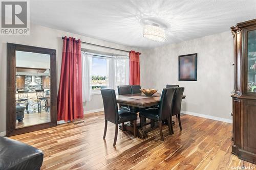
<path fill-rule="evenodd" d="M 129 85 L 129 67 L 129 57 L 82 52 L 83 102 L 102 88 L 115 89 L 118 94 L 117 86 Z"/>

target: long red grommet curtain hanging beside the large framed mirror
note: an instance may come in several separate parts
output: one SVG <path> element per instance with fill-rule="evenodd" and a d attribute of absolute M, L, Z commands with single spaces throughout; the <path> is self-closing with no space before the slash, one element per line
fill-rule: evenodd
<path fill-rule="evenodd" d="M 63 39 L 62 63 L 58 92 L 58 120 L 83 117 L 81 40 Z"/>

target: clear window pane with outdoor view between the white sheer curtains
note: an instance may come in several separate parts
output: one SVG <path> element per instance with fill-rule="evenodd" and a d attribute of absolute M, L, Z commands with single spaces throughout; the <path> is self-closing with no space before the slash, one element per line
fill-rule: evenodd
<path fill-rule="evenodd" d="M 92 90 L 100 90 L 107 86 L 106 59 L 92 58 Z"/>

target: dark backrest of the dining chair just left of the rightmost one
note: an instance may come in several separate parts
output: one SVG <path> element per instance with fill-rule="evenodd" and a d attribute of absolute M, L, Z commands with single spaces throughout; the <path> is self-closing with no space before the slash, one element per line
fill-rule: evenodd
<path fill-rule="evenodd" d="M 172 114 L 173 99 L 176 89 L 164 88 L 161 94 L 159 103 L 159 120 L 164 120 L 170 117 Z"/>

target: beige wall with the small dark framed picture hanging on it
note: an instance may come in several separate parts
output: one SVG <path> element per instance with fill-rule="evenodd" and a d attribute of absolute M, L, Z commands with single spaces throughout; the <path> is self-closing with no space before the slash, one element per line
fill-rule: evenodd
<path fill-rule="evenodd" d="M 178 56 L 191 53 L 198 53 L 198 81 L 178 81 Z M 231 122 L 232 63 L 231 32 L 141 50 L 141 86 L 179 84 L 185 87 L 184 113 Z"/>

